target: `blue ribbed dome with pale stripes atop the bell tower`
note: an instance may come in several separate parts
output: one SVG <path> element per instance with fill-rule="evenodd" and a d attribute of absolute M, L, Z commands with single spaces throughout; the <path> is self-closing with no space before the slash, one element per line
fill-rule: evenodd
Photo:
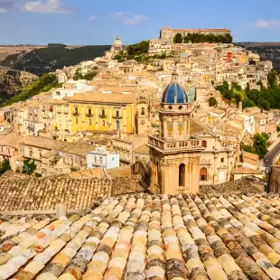
<path fill-rule="evenodd" d="M 181 85 L 172 82 L 163 91 L 163 104 L 185 104 L 188 103 L 188 95 Z"/>

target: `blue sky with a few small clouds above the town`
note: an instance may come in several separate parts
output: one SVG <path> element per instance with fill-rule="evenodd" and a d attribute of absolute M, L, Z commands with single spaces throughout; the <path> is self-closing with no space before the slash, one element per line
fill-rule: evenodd
<path fill-rule="evenodd" d="M 229 28 L 235 42 L 280 42 L 280 0 L 0 0 L 0 44 L 111 44 L 164 26 Z"/>

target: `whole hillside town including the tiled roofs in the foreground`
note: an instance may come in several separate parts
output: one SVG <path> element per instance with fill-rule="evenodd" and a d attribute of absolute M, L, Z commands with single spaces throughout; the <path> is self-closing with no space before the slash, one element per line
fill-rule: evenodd
<path fill-rule="evenodd" d="M 0 279 L 279 280 L 254 145 L 279 145 L 280 110 L 238 98 L 272 70 L 229 29 L 165 27 L 0 107 Z"/>

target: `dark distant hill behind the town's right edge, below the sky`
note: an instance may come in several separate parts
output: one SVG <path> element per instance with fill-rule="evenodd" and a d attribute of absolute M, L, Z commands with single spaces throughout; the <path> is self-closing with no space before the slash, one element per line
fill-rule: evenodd
<path fill-rule="evenodd" d="M 280 42 L 238 42 L 235 44 L 248 51 L 257 52 L 262 61 L 272 61 L 275 70 L 280 71 Z"/>

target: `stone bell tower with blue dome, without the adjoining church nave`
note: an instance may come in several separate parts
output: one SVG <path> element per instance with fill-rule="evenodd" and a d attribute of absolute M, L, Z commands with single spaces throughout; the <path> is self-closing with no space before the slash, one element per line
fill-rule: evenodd
<path fill-rule="evenodd" d="M 191 104 L 188 95 L 177 82 L 164 89 L 158 111 L 158 135 L 149 136 L 152 180 L 151 188 L 164 194 L 199 191 L 201 140 L 190 137 Z"/>

